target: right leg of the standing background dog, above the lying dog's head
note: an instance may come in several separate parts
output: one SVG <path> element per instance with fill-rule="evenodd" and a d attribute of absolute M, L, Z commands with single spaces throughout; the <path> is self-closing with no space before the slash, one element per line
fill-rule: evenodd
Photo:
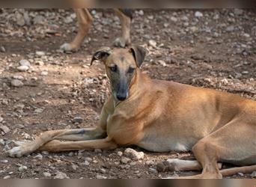
<path fill-rule="evenodd" d="M 124 10 L 121 10 L 121 9 L 120 10 L 115 9 L 115 13 L 118 15 L 120 22 L 121 22 L 122 37 L 118 37 L 114 41 L 114 45 L 119 46 L 119 47 L 129 46 L 129 44 L 131 43 L 131 39 L 130 39 L 131 17 L 125 15 Z"/>

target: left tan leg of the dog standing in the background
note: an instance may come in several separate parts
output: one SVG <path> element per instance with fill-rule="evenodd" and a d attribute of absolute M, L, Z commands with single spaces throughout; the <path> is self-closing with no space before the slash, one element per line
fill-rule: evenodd
<path fill-rule="evenodd" d="M 61 46 L 61 49 L 64 51 L 76 51 L 81 46 L 82 42 L 85 39 L 85 36 L 88 34 L 89 29 L 91 28 L 91 23 L 93 18 L 86 8 L 74 9 L 76 12 L 76 17 L 79 23 L 79 31 L 76 34 L 75 39 L 71 43 L 64 43 Z"/>

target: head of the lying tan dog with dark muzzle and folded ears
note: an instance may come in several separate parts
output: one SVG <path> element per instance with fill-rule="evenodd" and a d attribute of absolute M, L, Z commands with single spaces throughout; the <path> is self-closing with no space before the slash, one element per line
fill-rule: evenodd
<path fill-rule="evenodd" d="M 129 96 L 129 86 L 147 55 L 147 49 L 133 46 L 129 49 L 110 49 L 103 47 L 94 53 L 91 64 L 95 60 L 103 61 L 106 74 L 112 85 L 112 94 L 115 99 L 124 101 Z"/>

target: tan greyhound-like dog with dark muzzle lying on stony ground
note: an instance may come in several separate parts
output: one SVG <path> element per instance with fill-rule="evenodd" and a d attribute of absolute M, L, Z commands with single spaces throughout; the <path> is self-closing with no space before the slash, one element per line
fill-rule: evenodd
<path fill-rule="evenodd" d="M 255 171 L 256 102 L 222 91 L 150 79 L 139 69 L 146 54 L 141 46 L 95 52 L 91 64 L 103 61 L 112 88 L 98 126 L 43 132 L 34 141 L 8 150 L 9 156 L 35 150 L 137 145 L 155 152 L 192 150 L 197 161 L 174 159 L 175 170 L 203 170 L 188 178 L 221 178 Z M 219 171 L 217 162 L 243 167 Z"/>

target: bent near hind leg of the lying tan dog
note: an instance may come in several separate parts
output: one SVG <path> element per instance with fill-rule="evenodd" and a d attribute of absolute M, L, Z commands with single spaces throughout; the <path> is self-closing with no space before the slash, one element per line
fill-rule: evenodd
<path fill-rule="evenodd" d="M 234 172 L 252 172 L 255 167 L 240 167 L 219 171 L 217 162 L 235 165 L 255 165 L 255 126 L 233 120 L 221 129 L 198 141 L 192 148 L 195 158 L 201 163 L 202 174 L 181 178 L 222 178 Z M 222 175 L 223 174 L 223 175 Z"/>

